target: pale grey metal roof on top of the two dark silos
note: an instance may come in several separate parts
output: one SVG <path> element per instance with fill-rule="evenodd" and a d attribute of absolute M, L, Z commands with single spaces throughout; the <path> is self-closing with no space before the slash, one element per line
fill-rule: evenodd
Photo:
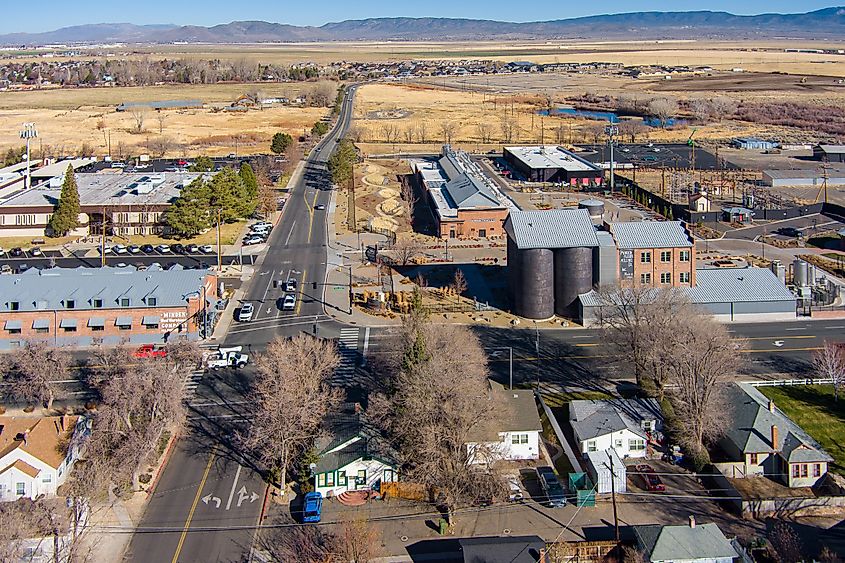
<path fill-rule="evenodd" d="M 517 248 L 573 248 L 599 245 L 586 209 L 522 211 L 513 209 L 505 231 Z"/>

